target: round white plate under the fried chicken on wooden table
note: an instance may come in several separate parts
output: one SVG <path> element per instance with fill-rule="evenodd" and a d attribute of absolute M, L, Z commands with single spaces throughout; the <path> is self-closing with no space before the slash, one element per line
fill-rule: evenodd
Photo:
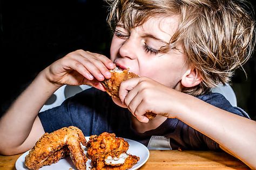
<path fill-rule="evenodd" d="M 85 137 L 86 140 L 89 140 L 89 137 Z M 137 164 L 135 164 L 131 169 L 135 170 L 140 168 L 141 166 L 143 166 L 147 159 L 149 159 L 149 150 L 147 149 L 147 147 L 141 143 L 139 143 L 138 141 L 134 141 L 131 139 L 126 139 L 124 138 L 128 143 L 129 143 L 129 150 L 127 151 L 127 153 L 130 153 L 132 155 L 136 155 L 138 156 L 140 159 L 137 162 Z M 86 152 L 86 151 L 85 151 Z M 25 156 L 29 153 L 29 151 L 26 151 L 25 153 L 23 153 L 16 161 L 15 167 L 17 170 L 28 170 L 28 168 L 26 168 L 24 161 L 25 161 Z M 86 169 L 90 169 L 91 167 L 91 159 L 88 159 L 88 161 L 86 162 Z M 73 164 L 72 160 L 70 159 L 70 157 L 66 157 L 63 159 L 60 159 L 58 162 L 56 162 L 55 164 L 51 164 L 51 165 L 46 165 L 41 167 L 40 169 L 62 169 L 62 170 L 69 170 L 69 168 L 73 168 L 76 169 L 75 165 Z"/>

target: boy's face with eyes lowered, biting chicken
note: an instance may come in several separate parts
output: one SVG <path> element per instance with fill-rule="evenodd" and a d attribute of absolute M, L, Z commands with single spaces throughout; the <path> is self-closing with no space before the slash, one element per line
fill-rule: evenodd
<path fill-rule="evenodd" d="M 182 49 L 171 49 L 167 53 L 159 52 L 167 45 L 178 26 L 178 17 L 150 18 L 130 32 L 122 23 L 118 23 L 114 33 L 110 55 L 111 60 L 120 68 L 140 76 L 180 90 L 180 80 L 186 72 L 186 55 Z"/>

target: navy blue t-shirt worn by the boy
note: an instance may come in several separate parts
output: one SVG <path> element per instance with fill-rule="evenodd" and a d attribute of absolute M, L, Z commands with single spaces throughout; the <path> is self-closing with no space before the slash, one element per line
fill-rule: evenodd
<path fill-rule="evenodd" d="M 219 93 L 209 93 L 197 97 L 215 107 L 249 118 L 245 111 L 233 107 Z M 165 136 L 170 138 L 173 150 L 178 148 L 183 150 L 220 149 L 212 139 L 173 118 L 167 118 L 157 129 L 138 133 L 132 128 L 130 111 L 114 104 L 107 93 L 95 88 L 86 89 L 68 98 L 59 107 L 41 112 L 38 116 L 44 131 L 49 133 L 72 125 L 81 129 L 85 136 L 106 131 L 115 133 L 118 137 L 137 140 L 146 146 L 151 136 Z"/>

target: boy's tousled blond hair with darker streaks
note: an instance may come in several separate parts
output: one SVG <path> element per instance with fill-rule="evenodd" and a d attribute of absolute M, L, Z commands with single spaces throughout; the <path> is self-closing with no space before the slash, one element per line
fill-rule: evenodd
<path fill-rule="evenodd" d="M 110 5 L 107 22 L 114 30 L 122 21 L 130 30 L 153 16 L 179 16 L 179 26 L 167 49 L 180 44 L 202 77 L 196 87 L 182 91 L 208 93 L 228 83 L 238 67 L 252 56 L 255 45 L 253 8 L 242 0 L 105 0 Z M 164 47 L 166 48 L 166 47 Z"/>

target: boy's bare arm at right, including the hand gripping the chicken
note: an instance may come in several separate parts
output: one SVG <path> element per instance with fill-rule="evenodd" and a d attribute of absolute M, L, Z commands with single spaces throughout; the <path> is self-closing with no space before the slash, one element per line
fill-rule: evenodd
<path fill-rule="evenodd" d="M 256 122 L 214 107 L 196 97 L 181 93 L 147 77 L 124 81 L 120 100 L 140 122 L 133 119 L 138 131 L 154 129 L 165 119 L 149 121 L 144 114 L 178 118 L 216 141 L 224 151 L 256 169 Z M 156 122 L 157 121 L 157 122 Z"/>

